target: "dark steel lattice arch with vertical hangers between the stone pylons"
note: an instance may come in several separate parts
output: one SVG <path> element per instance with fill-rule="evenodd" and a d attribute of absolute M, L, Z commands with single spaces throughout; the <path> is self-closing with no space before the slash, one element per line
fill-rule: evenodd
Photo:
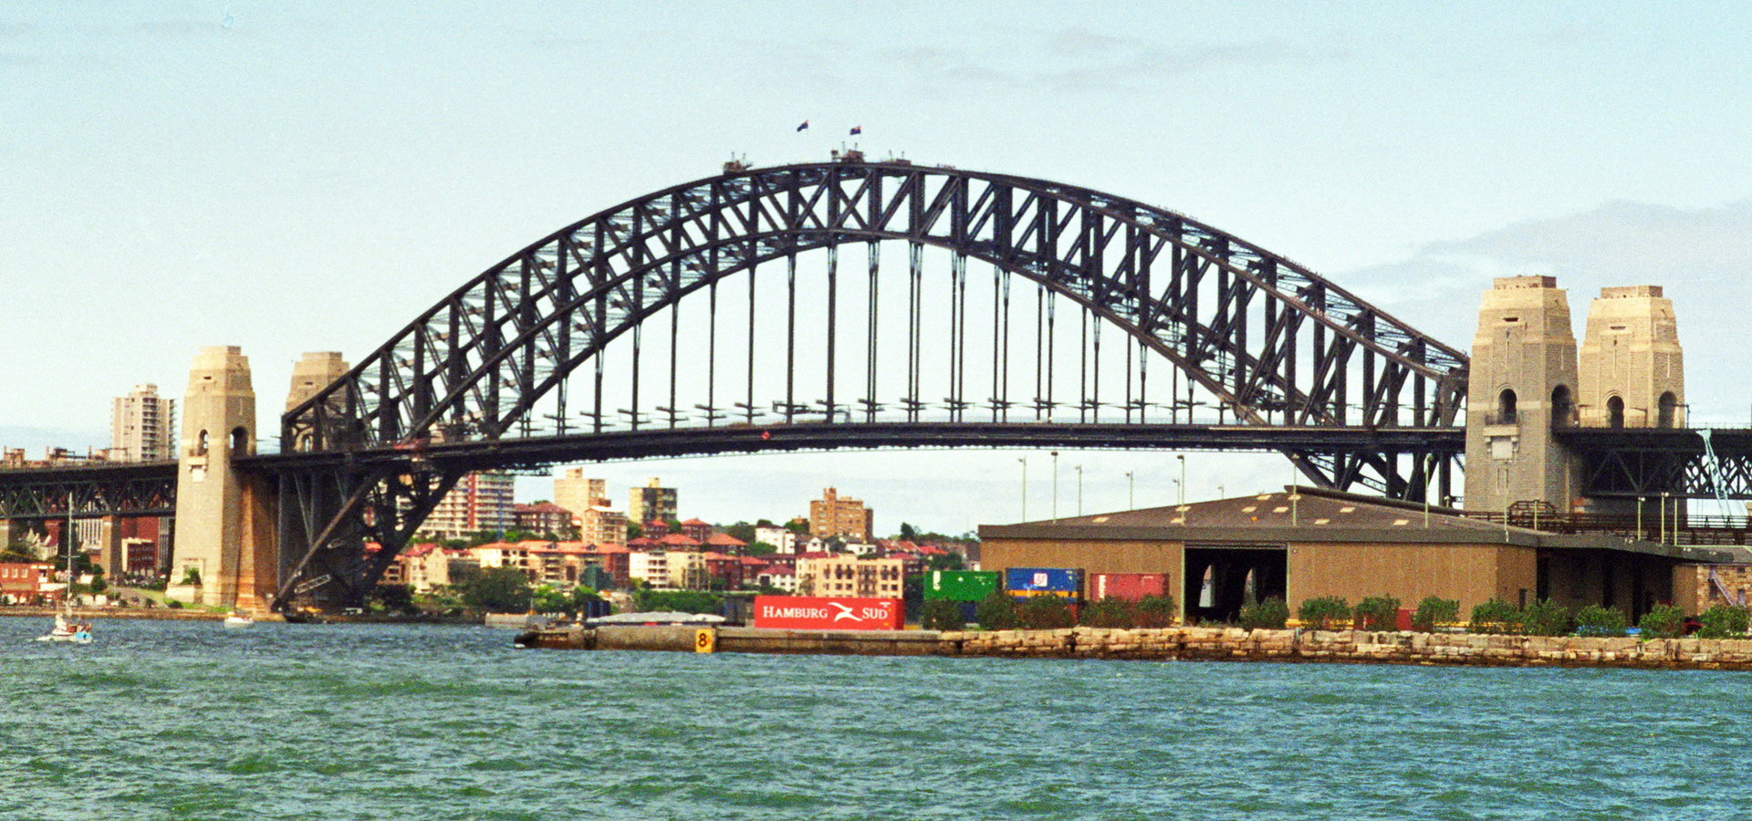
<path fill-rule="evenodd" d="M 857 245 L 867 247 L 867 273 L 841 271 L 839 250 Z M 887 245 L 906 249 L 904 301 L 878 287 Z M 950 256 L 946 277 L 927 280 L 930 249 Z M 825 252 L 825 266 L 799 278 L 799 256 L 809 252 Z M 969 303 L 971 289 L 985 289 L 972 285 L 969 261 L 993 271 L 988 305 Z M 778 355 L 757 355 L 760 266 L 785 273 L 781 364 Z M 746 327 L 732 327 L 732 338 L 746 334 L 746 347 L 720 357 L 720 319 L 745 319 L 739 305 L 720 299 L 720 287 L 738 275 L 746 278 L 748 308 Z M 1023 287 L 1013 289 L 1018 280 Z M 1030 284 L 1032 322 L 1027 306 L 1014 310 Z M 932 296 L 932 287 L 941 292 Z M 690 338 L 706 338 L 706 366 L 683 369 L 682 305 L 694 294 L 708 294 L 708 329 L 689 322 Z M 802 338 L 802 350 L 799 294 L 804 313 L 829 329 L 822 340 Z M 1058 305 L 1079 313 L 1074 345 L 1070 331 L 1060 333 Z M 902 364 L 878 354 L 880 341 L 901 336 L 895 310 L 906 324 Z M 946 313 L 948 334 L 927 340 L 930 312 Z M 844 326 L 865 331 L 864 345 L 839 345 Z M 650 373 L 641 373 L 646 327 L 669 334 L 668 368 L 655 368 L 657 399 Z M 1123 380 L 1116 364 L 1106 380 L 1100 375 L 1102 327 L 1121 334 L 1107 361 L 1116 362 L 1114 347 L 1125 350 Z M 1020 355 L 1013 336 L 1027 338 Z M 620 368 L 625 378 L 604 366 L 618 340 L 631 350 L 631 366 Z M 746 371 L 725 378 L 727 361 L 743 354 Z M 347 579 L 375 581 L 464 469 L 538 464 L 540 446 L 531 445 L 543 438 L 569 443 L 573 455 L 592 452 L 589 443 L 625 441 L 615 453 L 636 457 L 678 446 L 752 450 L 752 429 L 771 436 L 771 425 L 827 427 L 830 434 L 809 441 L 865 448 L 925 439 L 1079 446 L 1091 429 L 1135 425 L 1116 439 L 1148 446 L 1149 413 L 1163 408 L 1149 401 L 1149 359 L 1172 368 L 1174 422 L 1177 406 L 1190 420 L 1197 394 L 1219 420 L 1232 415 L 1235 425 L 1261 432 L 1305 432 L 1261 441 L 1316 485 L 1423 497 L 1433 480 L 1445 490 L 1458 460 L 1465 354 L 1282 256 L 1181 214 L 1039 179 L 865 163 L 858 154 L 760 170 L 732 163 L 722 175 L 625 201 L 519 250 L 287 411 L 282 453 L 258 457 L 280 466 L 279 599 L 314 590 L 317 579 L 340 579 L 357 593 Z M 1018 361 L 1021 369 L 1034 364 L 1032 380 L 1011 378 Z M 783 390 L 778 382 L 771 392 L 757 390 L 757 371 L 783 373 Z M 799 392 L 804 375 L 813 389 Z M 1065 387 L 1069 375 L 1077 376 L 1076 390 Z M 641 410 L 641 376 L 646 399 L 668 404 Z M 703 380 L 697 413 L 682 410 L 678 380 Z M 937 389 L 943 399 L 927 394 Z M 615 408 L 620 401 L 629 408 Z M 683 424 L 690 415 L 704 424 Z M 1074 424 L 1058 425 L 1070 415 Z M 585 422 L 573 425 L 573 417 Z M 540 418 L 552 418 L 557 431 L 538 436 Z M 899 436 L 895 425 L 909 432 Z M 1011 439 L 993 438 L 993 429 Z M 1388 441 L 1382 431 L 1410 436 Z M 1451 436 L 1437 441 L 1431 431 Z M 1372 445 L 1356 446 L 1360 434 Z M 739 445 L 699 445 L 720 439 Z M 1153 441 L 1184 446 L 1188 438 L 1179 431 Z M 1204 441 L 1225 446 L 1218 436 Z M 384 550 L 361 564 L 364 539 Z"/>

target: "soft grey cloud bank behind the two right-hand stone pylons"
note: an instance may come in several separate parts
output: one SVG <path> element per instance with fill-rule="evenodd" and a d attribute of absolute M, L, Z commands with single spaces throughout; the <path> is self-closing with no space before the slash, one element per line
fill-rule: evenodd
<path fill-rule="evenodd" d="M 1743 424 L 1743 361 L 1722 331 L 1745 322 L 1748 273 L 1752 200 L 1713 208 L 1614 201 L 1428 243 L 1407 259 L 1332 278 L 1461 350 L 1472 345 L 1473 310 L 1494 277 L 1558 277 L 1577 333 L 1601 287 L 1661 285 L 1678 317 L 1687 399 L 1699 420 L 1715 413 Z"/>

